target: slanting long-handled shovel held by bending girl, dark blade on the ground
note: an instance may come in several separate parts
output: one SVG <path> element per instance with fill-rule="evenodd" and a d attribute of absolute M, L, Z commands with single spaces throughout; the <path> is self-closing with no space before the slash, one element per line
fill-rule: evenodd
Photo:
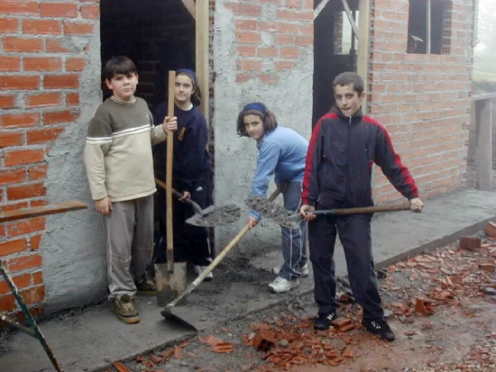
<path fill-rule="evenodd" d="M 271 194 L 271 196 L 269 196 L 269 199 L 266 199 L 268 203 L 271 203 L 274 201 L 274 199 L 280 195 L 280 188 L 276 188 L 274 190 L 274 192 Z M 174 306 L 176 304 L 179 303 L 180 300 L 182 300 L 184 297 L 186 297 L 187 295 L 189 295 L 197 286 L 199 286 L 199 284 L 201 282 L 203 282 L 203 280 L 207 277 L 208 274 L 210 274 L 212 272 L 212 270 L 214 268 L 216 268 L 216 266 L 219 264 L 220 261 L 222 261 L 222 259 L 225 258 L 225 256 L 227 255 L 227 253 L 229 253 L 230 250 L 233 249 L 233 247 L 238 243 L 239 240 L 241 240 L 244 236 L 244 234 L 246 232 L 248 232 L 250 230 L 250 225 L 248 223 L 246 223 L 244 226 L 243 226 L 243 229 L 241 229 L 241 231 L 239 231 L 237 233 L 237 235 L 234 237 L 233 240 L 229 241 L 229 243 L 225 246 L 225 249 L 222 250 L 216 257 L 216 259 L 214 259 L 212 261 L 212 263 L 210 265 L 207 266 L 207 268 L 205 270 L 203 270 L 203 272 L 188 286 L 188 288 L 186 288 L 186 290 L 181 293 L 179 296 L 177 296 L 174 301 L 172 301 L 170 304 L 167 304 L 167 306 L 165 306 L 165 309 L 163 309 L 161 311 L 161 314 L 162 316 L 165 318 L 165 319 L 169 319 L 171 321 L 174 321 L 174 322 L 179 322 L 181 324 L 184 324 L 186 326 L 188 326 L 188 328 L 192 328 L 194 330 L 197 330 L 197 327 L 195 326 L 195 322 L 194 320 L 187 320 L 187 316 L 188 316 L 188 311 L 186 310 L 184 312 L 184 314 L 181 314 L 180 316 L 173 313 L 173 310 L 174 310 Z"/>

